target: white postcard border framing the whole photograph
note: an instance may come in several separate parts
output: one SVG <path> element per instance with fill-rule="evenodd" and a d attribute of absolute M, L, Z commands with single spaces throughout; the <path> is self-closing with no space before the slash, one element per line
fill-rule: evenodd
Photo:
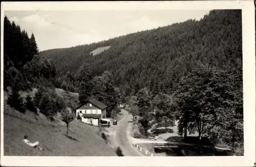
<path fill-rule="evenodd" d="M 242 9 L 244 156 L 76 157 L 3 156 L 4 10 L 205 10 Z M 255 162 L 255 19 L 253 1 L 191 2 L 2 2 L 1 4 L 1 165 L 3 166 L 253 166 Z"/>

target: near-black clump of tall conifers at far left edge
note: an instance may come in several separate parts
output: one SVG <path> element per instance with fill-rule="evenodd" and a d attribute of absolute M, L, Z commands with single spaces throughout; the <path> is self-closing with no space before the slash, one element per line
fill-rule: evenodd
<path fill-rule="evenodd" d="M 35 43 L 34 35 L 32 41 Z M 35 43 L 36 44 L 36 43 Z M 38 50 L 37 50 L 38 54 Z M 33 59 L 34 54 L 31 53 L 31 45 L 28 34 L 25 30 L 21 30 L 19 25 L 5 16 L 4 19 L 4 88 L 13 85 L 13 80 L 8 77 L 11 68 L 18 71 L 19 83 L 17 87 L 22 90 L 30 89 L 28 82 L 32 81 L 31 73 L 24 71 L 24 66 L 29 66 L 29 62 Z M 13 71 L 13 69 L 11 70 Z M 29 75 L 29 76 L 27 76 Z"/>

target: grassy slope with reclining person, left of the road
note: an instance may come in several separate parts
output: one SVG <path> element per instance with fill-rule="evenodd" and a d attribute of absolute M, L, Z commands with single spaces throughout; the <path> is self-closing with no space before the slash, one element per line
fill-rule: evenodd
<path fill-rule="evenodd" d="M 4 155 L 10 156 L 116 156 L 105 144 L 98 127 L 75 120 L 70 125 L 71 137 L 66 136 L 66 125 L 49 122 L 42 115 L 38 120 L 29 111 L 24 115 L 6 103 L 4 93 Z M 44 151 L 22 142 L 27 134 L 31 142 L 39 141 Z"/>

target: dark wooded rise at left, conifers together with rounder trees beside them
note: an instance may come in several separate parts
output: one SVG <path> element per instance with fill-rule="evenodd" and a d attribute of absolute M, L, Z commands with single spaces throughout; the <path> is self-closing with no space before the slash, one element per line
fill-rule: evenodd
<path fill-rule="evenodd" d="M 51 84 L 56 75 L 53 60 L 38 57 L 35 36 L 31 37 L 21 30 L 15 22 L 4 19 L 4 89 L 15 87 L 16 90 L 30 90 L 32 87 Z"/>

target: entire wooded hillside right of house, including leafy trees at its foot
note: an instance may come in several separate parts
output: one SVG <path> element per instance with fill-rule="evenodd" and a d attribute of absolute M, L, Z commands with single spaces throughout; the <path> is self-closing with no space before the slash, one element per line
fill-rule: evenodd
<path fill-rule="evenodd" d="M 111 47 L 90 54 L 104 46 Z M 184 136 L 207 136 L 243 154 L 241 10 L 212 10 L 199 21 L 39 55 L 56 64 L 55 86 L 78 92 L 80 100 L 94 95 L 111 104 L 110 92 L 120 95 L 144 134 L 154 110 L 158 122 L 179 120 Z"/>

